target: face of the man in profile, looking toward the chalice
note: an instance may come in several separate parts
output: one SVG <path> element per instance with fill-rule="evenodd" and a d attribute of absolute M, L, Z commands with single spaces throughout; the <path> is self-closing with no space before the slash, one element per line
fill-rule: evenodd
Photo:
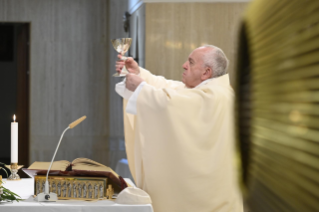
<path fill-rule="evenodd" d="M 197 48 L 189 56 L 188 60 L 183 64 L 183 76 L 182 82 L 188 88 L 194 88 L 200 84 L 202 80 L 202 75 L 205 72 L 205 67 L 203 64 L 203 56 L 206 52 L 206 48 Z"/>

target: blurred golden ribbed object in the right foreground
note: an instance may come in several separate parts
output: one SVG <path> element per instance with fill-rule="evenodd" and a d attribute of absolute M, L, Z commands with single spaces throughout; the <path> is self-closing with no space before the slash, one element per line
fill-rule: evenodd
<path fill-rule="evenodd" d="M 235 90 L 249 210 L 319 211 L 318 0 L 250 4 Z"/>

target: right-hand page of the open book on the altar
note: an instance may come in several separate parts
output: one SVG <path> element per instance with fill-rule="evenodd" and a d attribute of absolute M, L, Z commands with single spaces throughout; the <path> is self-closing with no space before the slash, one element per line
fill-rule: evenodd
<path fill-rule="evenodd" d="M 118 174 L 116 174 L 110 167 L 87 158 L 77 158 L 73 160 L 72 170 L 107 171 L 112 172 L 118 177 Z"/>

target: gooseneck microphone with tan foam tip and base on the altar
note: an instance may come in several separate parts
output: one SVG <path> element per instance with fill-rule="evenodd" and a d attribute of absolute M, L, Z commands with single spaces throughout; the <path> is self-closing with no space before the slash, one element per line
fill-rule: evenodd
<path fill-rule="evenodd" d="M 63 135 L 64 133 L 68 130 L 68 129 L 72 129 L 74 128 L 76 125 L 80 124 L 84 119 L 86 119 L 86 116 L 82 116 L 81 118 L 75 120 L 74 122 L 72 122 L 71 124 L 69 124 L 69 126 L 63 131 L 61 137 L 60 137 L 60 141 L 55 149 L 55 152 L 53 154 L 49 169 L 47 171 L 47 176 L 46 176 L 46 180 L 45 180 L 45 188 L 44 188 L 44 192 L 40 193 L 37 195 L 37 197 L 35 198 L 36 201 L 38 202 L 55 202 L 58 200 L 58 196 L 56 193 L 53 192 L 49 192 L 49 181 L 48 181 L 48 176 L 49 176 L 49 172 L 51 170 L 55 155 L 59 149 L 60 143 L 62 141 Z"/>

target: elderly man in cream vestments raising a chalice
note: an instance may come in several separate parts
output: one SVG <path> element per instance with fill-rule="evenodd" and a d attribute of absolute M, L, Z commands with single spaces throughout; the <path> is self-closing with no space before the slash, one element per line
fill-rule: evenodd
<path fill-rule="evenodd" d="M 223 51 L 195 49 L 183 64 L 182 82 L 152 75 L 132 58 L 117 62 L 116 70 L 124 65 L 130 73 L 116 91 L 124 97 L 129 166 L 155 212 L 241 212 L 234 93 Z"/>

